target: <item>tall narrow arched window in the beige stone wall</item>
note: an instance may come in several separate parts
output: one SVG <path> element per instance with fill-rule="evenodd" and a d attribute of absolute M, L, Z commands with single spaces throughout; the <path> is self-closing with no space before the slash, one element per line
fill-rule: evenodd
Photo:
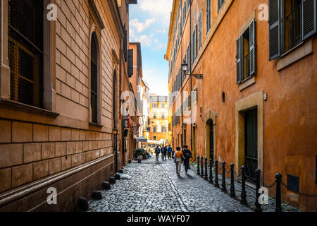
<path fill-rule="evenodd" d="M 92 109 L 92 122 L 98 123 L 97 119 L 97 103 L 98 103 L 98 88 L 97 88 L 97 73 L 98 73 L 98 57 L 97 57 L 97 35 L 92 33 L 90 54 L 90 107 Z"/>

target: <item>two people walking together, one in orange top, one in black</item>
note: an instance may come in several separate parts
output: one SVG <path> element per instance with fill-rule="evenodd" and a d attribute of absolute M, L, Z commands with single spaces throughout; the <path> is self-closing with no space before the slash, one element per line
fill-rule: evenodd
<path fill-rule="evenodd" d="M 189 167 L 189 160 L 192 158 L 192 151 L 188 149 L 187 145 L 184 145 L 182 150 L 180 147 L 176 148 L 176 152 L 174 153 L 174 162 L 176 165 L 176 174 L 180 176 L 180 169 L 182 163 L 184 163 L 185 174 L 187 175 Z"/>

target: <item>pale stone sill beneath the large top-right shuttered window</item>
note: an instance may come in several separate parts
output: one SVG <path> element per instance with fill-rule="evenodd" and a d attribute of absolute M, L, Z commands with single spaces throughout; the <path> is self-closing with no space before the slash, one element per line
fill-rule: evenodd
<path fill-rule="evenodd" d="M 285 52 L 285 54 L 282 54 L 277 64 L 278 71 L 285 69 L 287 66 L 290 66 L 294 62 L 299 61 L 299 59 L 306 57 L 312 52 L 312 40 L 308 40 L 307 42 L 301 42 L 297 44 L 296 47 L 293 47 L 289 51 Z"/>

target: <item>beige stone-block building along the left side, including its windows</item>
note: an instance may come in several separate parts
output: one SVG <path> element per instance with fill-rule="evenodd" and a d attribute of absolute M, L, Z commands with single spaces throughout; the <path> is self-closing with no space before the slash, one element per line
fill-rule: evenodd
<path fill-rule="evenodd" d="M 49 4 L 56 20 L 44 19 Z M 1 1 L 0 211 L 75 210 L 131 158 L 120 114 L 129 4 Z"/>

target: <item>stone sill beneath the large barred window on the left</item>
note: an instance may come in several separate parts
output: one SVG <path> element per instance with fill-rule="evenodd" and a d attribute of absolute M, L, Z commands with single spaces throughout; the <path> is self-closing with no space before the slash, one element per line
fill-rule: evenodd
<path fill-rule="evenodd" d="M 50 118 L 56 118 L 59 115 L 56 112 L 51 112 L 49 110 L 42 109 L 39 107 L 25 105 L 23 103 L 15 102 L 13 100 L 7 100 L 4 98 L 0 99 L 0 106 L 6 107 L 9 109 L 14 109 L 14 110 L 17 110 L 19 112 L 26 112 L 26 113 L 30 113 L 30 114 L 40 114 L 42 116 L 46 116 L 46 117 L 50 117 Z"/>

